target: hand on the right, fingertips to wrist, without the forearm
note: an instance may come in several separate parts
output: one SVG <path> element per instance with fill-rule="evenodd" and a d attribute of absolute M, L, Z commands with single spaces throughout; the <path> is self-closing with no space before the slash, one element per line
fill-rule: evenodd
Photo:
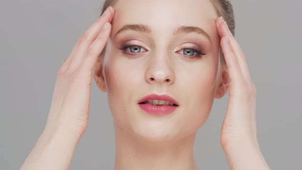
<path fill-rule="evenodd" d="M 229 100 L 221 130 L 224 151 L 242 144 L 258 146 L 256 133 L 256 89 L 245 55 L 222 17 L 217 19 L 221 48 L 229 72 Z"/>

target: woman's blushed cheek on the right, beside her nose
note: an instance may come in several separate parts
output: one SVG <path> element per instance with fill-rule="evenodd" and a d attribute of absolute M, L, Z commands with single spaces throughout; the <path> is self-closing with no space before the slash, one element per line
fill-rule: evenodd
<path fill-rule="evenodd" d="M 217 60 L 204 62 L 196 69 L 190 70 L 190 74 L 183 74 L 182 88 L 185 89 L 181 94 L 182 101 L 186 101 L 187 115 L 182 123 L 190 124 L 187 126 L 186 133 L 197 131 L 207 120 L 215 93 L 216 75 L 218 69 Z"/>

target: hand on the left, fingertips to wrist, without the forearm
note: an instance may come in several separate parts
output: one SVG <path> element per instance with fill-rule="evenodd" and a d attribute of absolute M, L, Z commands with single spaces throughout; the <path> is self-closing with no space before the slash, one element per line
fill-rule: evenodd
<path fill-rule="evenodd" d="M 108 12 L 108 13 L 106 13 Z M 112 7 L 80 37 L 57 72 L 46 130 L 64 129 L 80 138 L 88 125 L 93 67 L 111 32 Z"/>

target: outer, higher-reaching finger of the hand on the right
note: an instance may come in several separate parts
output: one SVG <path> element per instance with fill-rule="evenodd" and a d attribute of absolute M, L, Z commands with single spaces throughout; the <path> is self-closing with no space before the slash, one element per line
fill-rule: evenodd
<path fill-rule="evenodd" d="M 223 20 L 222 17 L 220 19 L 218 19 L 217 24 L 218 24 L 218 30 L 219 30 L 220 35 L 229 37 L 231 49 L 239 62 L 239 66 L 241 68 L 242 74 L 244 75 L 244 77 L 246 79 L 250 79 L 250 73 L 248 70 L 246 58 L 245 58 L 245 55 L 244 55 L 242 49 L 240 48 L 240 45 L 238 44 L 238 41 L 236 41 L 236 39 L 230 32 L 226 22 Z"/>

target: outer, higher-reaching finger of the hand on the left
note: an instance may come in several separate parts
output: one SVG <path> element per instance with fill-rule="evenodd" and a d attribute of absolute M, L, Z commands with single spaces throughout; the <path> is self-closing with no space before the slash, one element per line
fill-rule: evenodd
<path fill-rule="evenodd" d="M 85 57 L 85 52 L 90 47 L 95 38 L 99 35 L 101 28 L 105 23 L 110 23 L 113 16 L 114 9 L 112 7 L 107 8 L 106 11 L 101 15 L 101 17 L 80 37 L 75 45 L 74 52 L 72 54 L 73 57 L 70 61 L 70 69 L 75 69 L 80 65 L 82 58 Z"/>

